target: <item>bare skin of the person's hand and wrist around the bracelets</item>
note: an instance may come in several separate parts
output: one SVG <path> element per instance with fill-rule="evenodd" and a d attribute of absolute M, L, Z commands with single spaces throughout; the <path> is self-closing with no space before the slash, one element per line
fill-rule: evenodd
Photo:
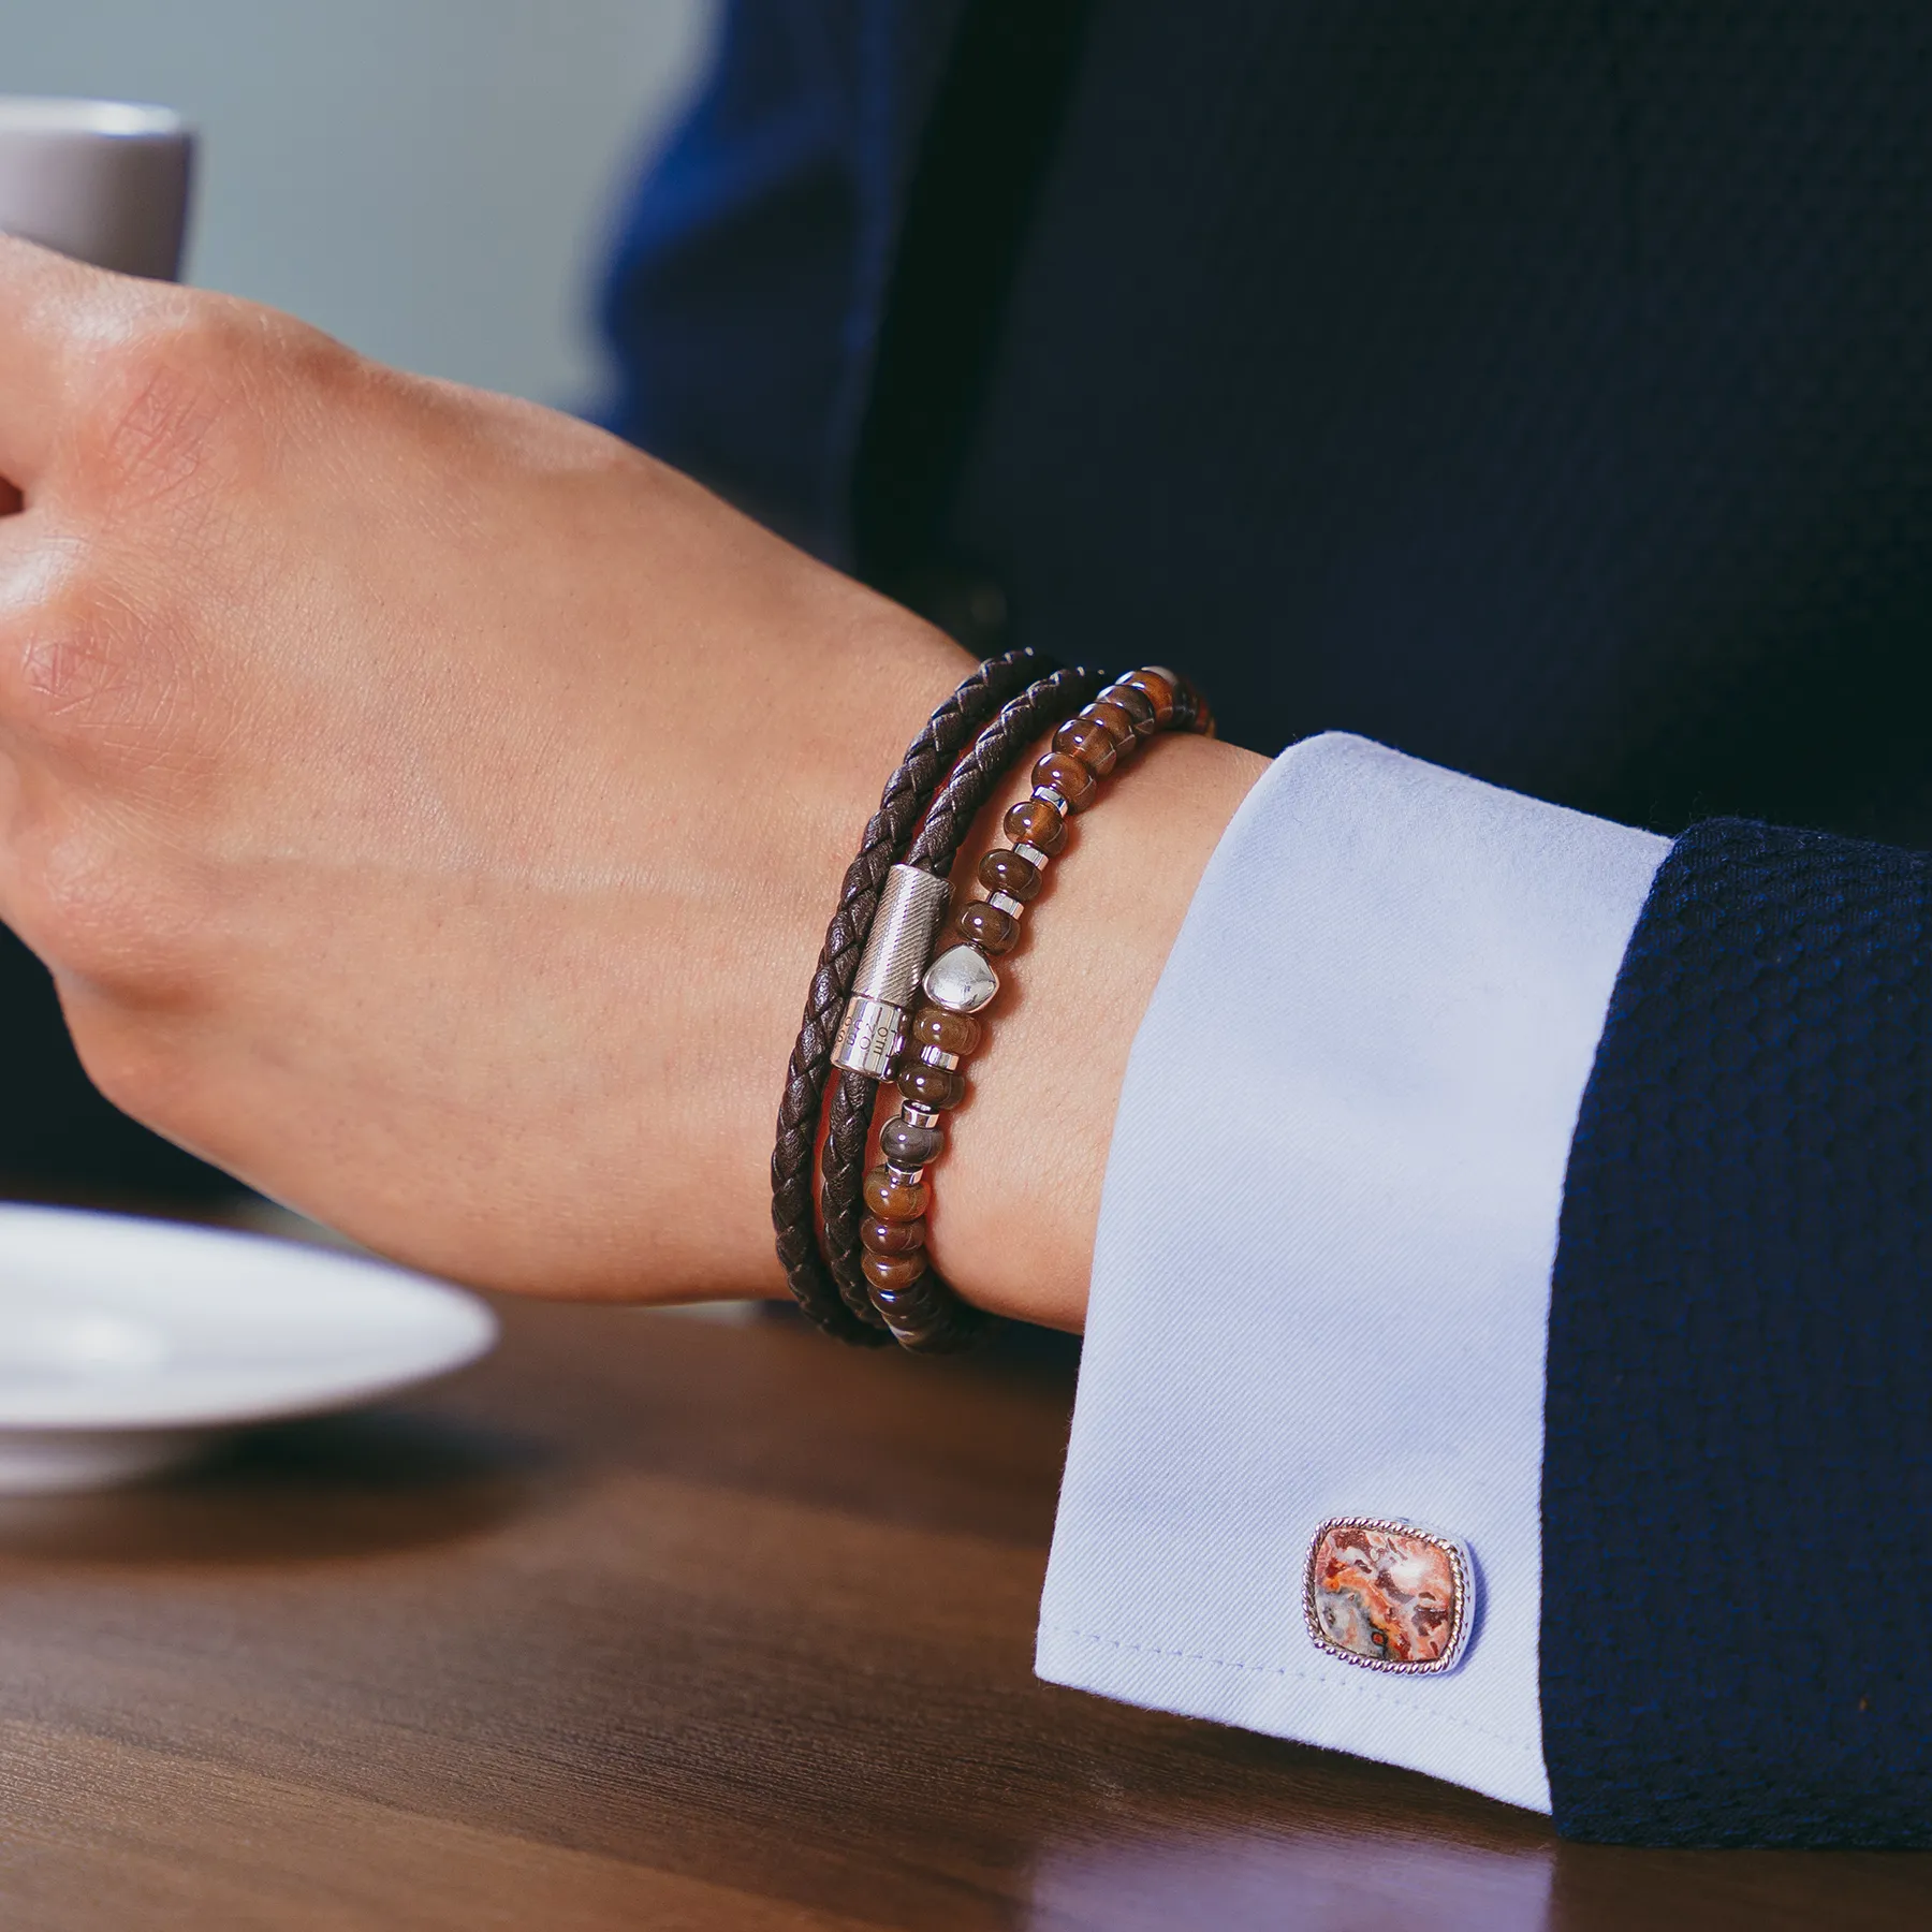
<path fill-rule="evenodd" d="M 781 1293 L 806 983 L 970 659 L 601 431 L 14 240 L 0 473 L 0 916 L 102 1092 L 481 1287 Z M 935 1171 L 981 1306 L 1080 1323 L 1132 1032 L 1260 769 L 1150 746 L 1053 867 Z"/>

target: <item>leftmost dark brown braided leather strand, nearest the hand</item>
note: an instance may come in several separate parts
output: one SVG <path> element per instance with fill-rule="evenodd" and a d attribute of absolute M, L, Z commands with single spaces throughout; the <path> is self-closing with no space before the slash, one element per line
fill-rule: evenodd
<path fill-rule="evenodd" d="M 962 748 L 1016 690 L 1051 670 L 1051 659 L 1037 651 L 1007 651 L 987 659 L 925 721 L 925 728 L 906 746 L 906 755 L 887 781 L 879 810 L 866 825 L 858 858 L 846 867 L 838 889 L 838 908 L 825 929 L 819 964 L 806 997 L 806 1016 L 784 1070 L 779 1101 L 779 1138 L 771 1153 L 771 1223 L 779 1236 L 779 1262 L 798 1306 L 829 1335 L 869 1347 L 893 1337 L 885 1333 L 871 1304 L 864 1316 L 846 1306 L 819 1258 L 813 1229 L 811 1167 L 817 1157 L 819 1111 L 825 1078 L 831 1072 L 833 1034 L 852 991 L 852 976 L 879 906 L 879 887 L 898 864 L 914 827 L 952 769 Z"/>

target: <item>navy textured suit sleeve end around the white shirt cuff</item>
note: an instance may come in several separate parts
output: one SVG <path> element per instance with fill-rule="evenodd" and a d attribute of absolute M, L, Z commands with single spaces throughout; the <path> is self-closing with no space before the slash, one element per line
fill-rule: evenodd
<path fill-rule="evenodd" d="M 1658 871 L 1549 1312 L 1557 1826 L 1932 1843 L 1932 860 L 1716 821 Z"/>

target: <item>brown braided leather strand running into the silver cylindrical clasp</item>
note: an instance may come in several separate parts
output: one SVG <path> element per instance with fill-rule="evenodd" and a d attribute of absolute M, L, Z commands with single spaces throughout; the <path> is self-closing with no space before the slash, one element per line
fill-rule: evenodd
<path fill-rule="evenodd" d="M 941 879 L 949 877 L 972 821 L 1012 769 L 1014 759 L 1022 757 L 1036 738 L 1072 717 L 1105 682 L 1105 672 L 1084 667 L 1055 670 L 1010 699 L 947 779 L 904 864 L 939 873 Z M 871 1138 L 877 1092 L 879 1082 L 871 1074 L 846 1072 L 833 1084 L 831 1126 L 825 1134 L 819 1182 L 833 1281 L 838 1283 L 854 1320 L 862 1321 L 879 1320 L 858 1262 L 858 1223 L 866 1213 L 860 1190 L 866 1180 L 866 1146 Z M 968 1347 L 987 1325 L 987 1318 L 962 1302 L 937 1273 L 922 1277 L 922 1285 L 925 1281 L 933 1283 L 933 1325 L 929 1333 L 922 1333 L 918 1350 L 949 1354 Z"/>

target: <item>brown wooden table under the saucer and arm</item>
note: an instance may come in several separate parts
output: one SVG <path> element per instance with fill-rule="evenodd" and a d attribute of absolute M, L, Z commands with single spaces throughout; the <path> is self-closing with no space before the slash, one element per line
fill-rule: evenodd
<path fill-rule="evenodd" d="M 1063 1372 L 504 1320 L 394 1408 L 0 1505 L 0 1922 L 1932 1924 L 1932 1859 L 1565 1847 L 1036 1683 Z"/>

